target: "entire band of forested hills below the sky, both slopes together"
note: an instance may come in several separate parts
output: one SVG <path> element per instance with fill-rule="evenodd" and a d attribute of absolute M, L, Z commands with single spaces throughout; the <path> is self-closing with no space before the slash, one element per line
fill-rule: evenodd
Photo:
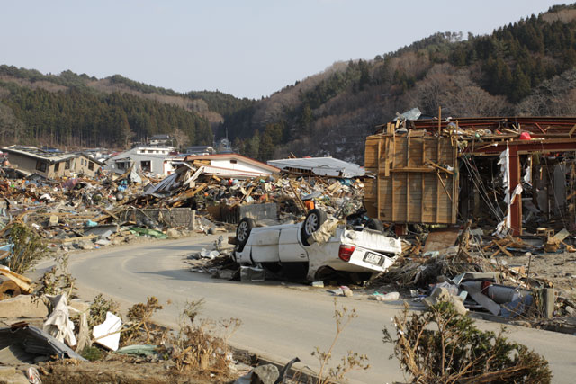
<path fill-rule="evenodd" d="M 576 4 L 489 35 L 439 32 L 373 59 L 338 62 L 261 100 L 173 90 L 116 75 L 0 66 L 0 141 L 125 147 L 157 133 L 181 146 L 228 132 L 267 160 L 331 155 L 363 163 L 374 126 L 413 107 L 428 116 L 576 115 Z"/>

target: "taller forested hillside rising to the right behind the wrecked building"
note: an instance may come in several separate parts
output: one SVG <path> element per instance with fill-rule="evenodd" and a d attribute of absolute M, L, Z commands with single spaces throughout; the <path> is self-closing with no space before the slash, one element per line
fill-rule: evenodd
<path fill-rule="evenodd" d="M 332 155 L 362 163 L 374 126 L 419 107 L 437 116 L 576 114 L 576 6 L 490 35 L 437 33 L 371 60 L 340 62 L 226 116 L 260 159 Z"/>

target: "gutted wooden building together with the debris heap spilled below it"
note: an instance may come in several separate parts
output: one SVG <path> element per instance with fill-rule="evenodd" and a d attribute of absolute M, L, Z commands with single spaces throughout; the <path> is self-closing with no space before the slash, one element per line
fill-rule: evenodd
<path fill-rule="evenodd" d="M 410 242 L 383 281 L 500 317 L 573 315 L 570 264 L 563 277 L 535 265 L 576 251 L 575 132 L 576 119 L 558 117 L 401 115 L 378 127 L 366 139 L 365 208 Z"/>

